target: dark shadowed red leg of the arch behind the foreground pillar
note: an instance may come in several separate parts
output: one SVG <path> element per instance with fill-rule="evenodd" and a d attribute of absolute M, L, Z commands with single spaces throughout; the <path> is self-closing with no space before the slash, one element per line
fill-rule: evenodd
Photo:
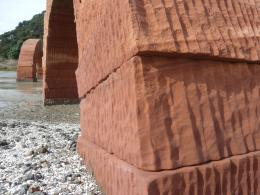
<path fill-rule="evenodd" d="M 78 44 L 72 0 L 47 1 L 44 30 L 44 103 L 77 102 Z"/>

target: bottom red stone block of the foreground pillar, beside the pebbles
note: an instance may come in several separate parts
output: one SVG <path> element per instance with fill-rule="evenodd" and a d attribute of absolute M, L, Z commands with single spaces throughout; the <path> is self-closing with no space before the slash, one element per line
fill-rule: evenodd
<path fill-rule="evenodd" d="M 108 154 L 84 137 L 78 152 L 107 195 L 257 195 L 260 152 L 200 166 L 161 172 L 142 171 Z"/>

